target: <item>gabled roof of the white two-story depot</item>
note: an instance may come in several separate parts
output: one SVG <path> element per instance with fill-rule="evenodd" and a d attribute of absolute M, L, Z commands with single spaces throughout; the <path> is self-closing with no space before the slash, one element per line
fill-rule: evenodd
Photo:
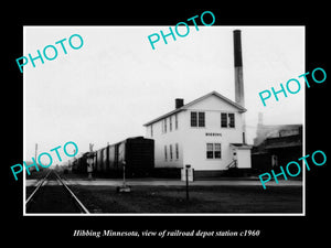
<path fill-rule="evenodd" d="M 162 116 L 160 116 L 160 117 L 158 117 L 158 118 L 156 118 L 156 119 L 153 119 L 153 120 L 151 120 L 151 121 L 145 123 L 143 126 L 152 125 L 152 123 L 154 123 L 154 122 L 157 122 L 157 121 L 159 121 L 159 120 L 161 120 L 161 119 L 164 119 L 164 118 L 167 118 L 167 117 L 169 117 L 169 116 L 171 116 L 171 115 L 174 115 L 174 114 L 177 114 L 177 112 L 186 110 L 186 109 L 188 109 L 189 107 L 191 107 L 192 105 L 194 105 L 194 104 L 196 104 L 196 103 L 199 103 L 199 101 L 202 101 L 202 100 L 206 99 L 207 97 L 210 97 L 210 96 L 212 96 L 212 95 L 218 97 L 220 99 L 224 100 L 225 103 L 227 103 L 227 104 L 232 105 L 233 107 L 237 108 L 241 112 L 247 111 L 246 108 L 244 108 L 243 106 L 238 105 L 237 103 L 235 103 L 235 101 L 233 101 L 233 100 L 226 98 L 225 96 L 222 96 L 220 93 L 217 93 L 217 91 L 211 91 L 211 93 L 209 93 L 209 94 L 206 94 L 206 95 L 204 95 L 204 96 L 202 96 L 202 97 L 200 97 L 200 98 L 197 98 L 197 99 L 195 99 L 195 100 L 190 101 L 189 104 L 183 105 L 183 106 L 180 107 L 180 108 L 177 108 L 177 109 L 174 109 L 174 110 L 172 110 L 172 111 L 170 111 L 170 112 L 167 112 L 167 114 L 164 114 L 164 115 L 162 115 Z"/>

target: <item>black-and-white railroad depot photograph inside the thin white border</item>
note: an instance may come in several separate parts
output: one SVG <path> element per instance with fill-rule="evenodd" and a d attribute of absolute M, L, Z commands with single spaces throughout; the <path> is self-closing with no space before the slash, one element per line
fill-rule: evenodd
<path fill-rule="evenodd" d="M 305 26 L 24 26 L 28 53 L 24 214 L 305 214 Z"/>

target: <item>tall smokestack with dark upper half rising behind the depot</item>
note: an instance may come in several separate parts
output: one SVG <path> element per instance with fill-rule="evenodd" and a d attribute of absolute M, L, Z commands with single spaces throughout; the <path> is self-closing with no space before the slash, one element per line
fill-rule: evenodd
<path fill-rule="evenodd" d="M 243 56 L 242 56 L 242 31 L 233 31 L 234 42 L 234 66 L 235 66 L 235 101 L 245 107 L 244 78 L 243 78 Z M 243 114 L 243 143 L 246 143 L 246 123 Z"/>

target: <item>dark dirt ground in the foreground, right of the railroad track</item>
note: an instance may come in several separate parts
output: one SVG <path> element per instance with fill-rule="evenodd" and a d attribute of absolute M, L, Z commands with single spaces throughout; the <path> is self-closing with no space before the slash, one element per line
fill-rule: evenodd
<path fill-rule="evenodd" d="M 281 186 L 115 186 L 71 185 L 90 213 L 302 213 L 302 187 Z"/>

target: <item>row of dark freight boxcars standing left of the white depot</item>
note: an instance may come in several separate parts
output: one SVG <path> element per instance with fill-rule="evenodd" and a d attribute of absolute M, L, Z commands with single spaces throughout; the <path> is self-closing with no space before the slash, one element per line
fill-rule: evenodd
<path fill-rule="evenodd" d="M 73 162 L 74 173 L 87 173 L 87 154 L 82 154 Z M 124 164 L 126 176 L 150 175 L 154 168 L 154 140 L 134 137 L 94 152 L 94 175 L 121 177 Z"/>

